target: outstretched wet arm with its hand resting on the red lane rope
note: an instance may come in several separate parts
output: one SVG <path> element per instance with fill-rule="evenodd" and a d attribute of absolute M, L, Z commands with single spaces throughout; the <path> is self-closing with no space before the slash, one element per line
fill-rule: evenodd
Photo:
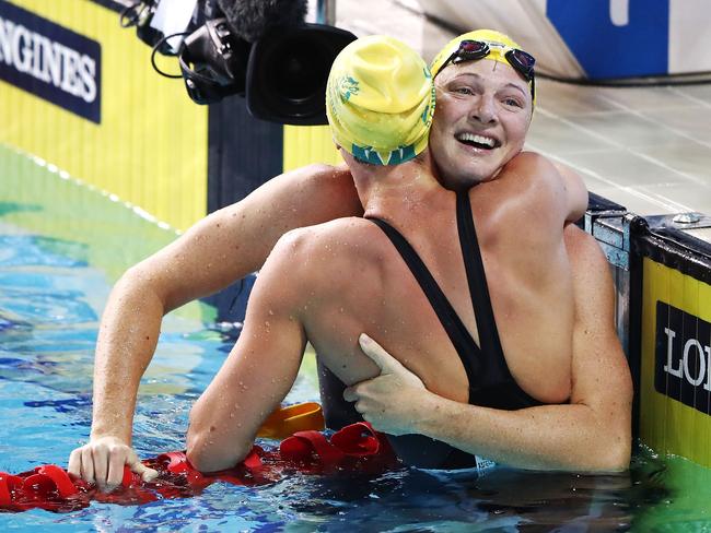
<path fill-rule="evenodd" d="M 243 201 L 210 214 L 127 271 L 102 318 L 91 441 L 72 453 L 72 471 L 90 472 L 86 477 L 93 481 L 94 472 L 108 466 L 97 464 L 100 470 L 95 470 L 88 462 L 104 463 L 106 454 L 113 461 L 115 447 L 130 446 L 138 387 L 153 356 L 163 315 L 258 269 L 289 229 L 361 213 L 352 178 L 345 169 L 312 165 L 281 175 Z M 108 439 L 108 449 L 94 448 L 92 442 L 101 439 Z M 113 482 L 123 472 L 125 455 L 118 457 L 120 465 L 114 465 Z"/>

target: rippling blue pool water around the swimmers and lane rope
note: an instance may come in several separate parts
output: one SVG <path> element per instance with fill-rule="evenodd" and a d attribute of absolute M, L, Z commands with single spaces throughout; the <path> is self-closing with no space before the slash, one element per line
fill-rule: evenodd
<path fill-rule="evenodd" d="M 109 288 L 175 238 L 137 211 L 0 147 L 0 471 L 66 466 L 86 440 L 93 348 Z M 184 447 L 189 407 L 236 331 L 199 303 L 166 317 L 139 393 L 139 455 Z M 318 399 L 313 367 L 307 355 L 289 401 Z M 0 512 L 0 531 L 711 531 L 710 482 L 708 470 L 640 447 L 620 475 L 294 474 L 257 487 L 215 483 L 142 506 Z"/>

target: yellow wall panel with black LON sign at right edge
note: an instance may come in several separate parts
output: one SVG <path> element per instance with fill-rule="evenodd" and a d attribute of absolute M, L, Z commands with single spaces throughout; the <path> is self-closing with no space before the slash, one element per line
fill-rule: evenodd
<path fill-rule="evenodd" d="M 672 217 L 646 222 L 636 242 L 643 264 L 640 437 L 711 466 L 711 245 Z"/>

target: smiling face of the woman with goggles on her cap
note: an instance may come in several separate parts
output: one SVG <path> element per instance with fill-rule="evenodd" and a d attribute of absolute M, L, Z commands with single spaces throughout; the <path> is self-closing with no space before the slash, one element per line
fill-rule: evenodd
<path fill-rule="evenodd" d="M 463 189 L 494 178 L 523 149 L 533 112 L 528 84 L 489 59 L 447 66 L 434 83 L 430 150 L 442 183 Z"/>

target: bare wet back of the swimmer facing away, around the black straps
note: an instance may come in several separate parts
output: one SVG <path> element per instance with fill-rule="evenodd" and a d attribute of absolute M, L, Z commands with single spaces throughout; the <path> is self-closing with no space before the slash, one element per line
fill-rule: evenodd
<path fill-rule="evenodd" d="M 435 215 L 427 222 L 401 222 L 398 229 L 422 257 L 466 329 L 478 342 L 458 247 L 454 198 L 454 193 L 448 191 L 434 194 L 428 203 Z M 471 198 L 476 220 L 479 208 L 476 196 Z M 482 213 L 479 215 L 483 216 Z M 509 216 L 506 209 L 489 215 L 494 218 Z M 398 226 L 397 223 L 394 225 Z M 543 241 L 550 248 L 546 253 L 548 260 L 553 253 L 562 254 L 556 259 L 550 273 L 538 268 L 540 261 L 536 249 L 517 252 L 511 261 L 500 259 L 505 251 L 500 248 L 500 240 L 508 236 L 490 230 L 493 226 L 482 225 L 485 268 L 490 277 L 489 287 L 506 363 L 516 378 L 527 375 L 533 367 L 536 369 L 534 374 L 539 371 L 547 376 L 547 380 L 527 382 L 524 379 L 520 384 L 527 393 L 545 402 L 563 401 L 569 393 L 569 371 L 557 357 L 562 358 L 562 354 L 570 356 L 570 331 L 562 335 L 559 332 L 570 330 L 572 325 L 561 328 L 560 320 L 550 312 L 556 308 L 564 310 L 569 301 L 572 303 L 566 283 L 570 276 L 566 272 L 562 224 L 557 246 L 547 245 L 553 241 L 552 237 Z M 480 232 L 479 227 L 477 230 Z M 307 304 L 308 312 L 304 313 L 303 320 L 310 341 L 325 357 L 327 366 L 347 384 L 376 375 L 377 369 L 358 348 L 358 335 L 365 331 L 401 358 L 430 390 L 466 402 L 468 382 L 456 351 L 408 268 L 380 228 L 369 221 L 347 218 L 300 232 L 298 238 L 305 246 L 301 257 L 319 271 L 318 280 L 313 283 L 314 299 Z M 538 272 L 543 274 L 535 280 L 525 277 L 518 280 L 521 283 L 512 283 L 511 280 L 521 277 L 520 262 L 536 263 L 532 270 L 537 275 Z M 561 279 L 563 283 L 560 283 Z M 550 303 L 551 299 L 555 305 L 540 305 L 540 301 Z M 546 333 L 547 336 L 539 342 L 540 332 L 552 330 L 555 324 L 558 324 L 556 331 Z M 559 378 L 551 380 L 550 376 Z"/>

